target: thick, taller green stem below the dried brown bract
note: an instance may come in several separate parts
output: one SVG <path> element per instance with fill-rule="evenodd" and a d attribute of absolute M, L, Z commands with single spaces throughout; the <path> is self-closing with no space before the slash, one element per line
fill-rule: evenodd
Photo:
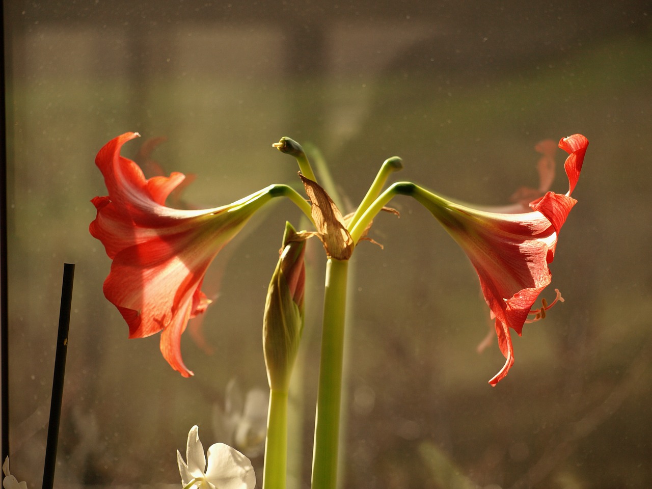
<path fill-rule="evenodd" d="M 348 261 L 328 259 L 312 453 L 312 489 L 335 489 L 337 483 L 347 274 Z"/>

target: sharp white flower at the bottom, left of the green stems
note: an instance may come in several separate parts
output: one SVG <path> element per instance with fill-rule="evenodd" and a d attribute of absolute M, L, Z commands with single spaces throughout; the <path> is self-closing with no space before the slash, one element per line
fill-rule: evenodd
<path fill-rule="evenodd" d="M 200 441 L 199 428 L 193 426 L 188 433 L 187 464 L 177 450 L 179 473 L 184 488 L 254 489 L 256 474 L 246 456 L 224 443 L 211 445 L 207 454 L 208 465 Z"/>

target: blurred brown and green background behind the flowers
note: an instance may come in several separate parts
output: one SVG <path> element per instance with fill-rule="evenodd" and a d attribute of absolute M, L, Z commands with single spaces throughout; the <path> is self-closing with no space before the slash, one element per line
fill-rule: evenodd
<path fill-rule="evenodd" d="M 183 379 L 158 336 L 127 340 L 102 295 L 110 260 L 89 202 L 98 149 L 130 130 L 166 172 L 196 175 L 192 207 L 237 200 L 297 168 L 271 147 L 318 149 L 346 210 L 385 158 L 396 178 L 483 205 L 536 187 L 535 144 L 590 141 L 552 264 L 566 299 L 514 338 L 490 320 L 466 256 L 424 209 L 392 202 L 354 256 L 344 488 L 652 486 L 652 11 L 623 1 L 11 1 L 5 9 L 11 467 L 40 486 L 63 263 L 76 263 L 55 486 L 179 484 L 200 425 L 229 441 L 231 379 L 265 389 L 261 317 L 291 203 L 254 218 L 214 263 L 205 343 Z M 317 154 L 317 153 L 313 153 Z M 567 190 L 557 153 L 553 189 Z M 309 254 L 293 387 L 292 487 L 310 481 L 325 259 Z M 232 391 L 230 391 L 232 392 Z M 237 404 L 237 402 L 235 402 Z M 263 408 L 264 409 L 264 408 Z M 217 417 L 219 418 L 219 417 Z M 224 418 L 224 416 L 222 416 Z M 226 436 L 228 437 L 228 436 Z M 253 456 L 256 467 L 261 457 Z"/>

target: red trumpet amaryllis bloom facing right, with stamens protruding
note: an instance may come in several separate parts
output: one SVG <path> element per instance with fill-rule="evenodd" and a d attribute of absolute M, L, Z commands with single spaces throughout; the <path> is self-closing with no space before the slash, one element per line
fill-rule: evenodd
<path fill-rule="evenodd" d="M 462 246 L 480 278 L 506 359 L 500 372 L 489 381 L 491 385 L 503 379 L 514 363 L 509 329 L 520 336 L 530 314 L 540 318 L 552 306 L 544 303 L 541 309 L 532 309 L 541 291 L 550 284 L 548 265 L 554 259 L 559 230 L 576 203 L 571 193 L 580 176 L 588 144 L 581 134 L 559 141 L 559 147 L 569 153 L 564 164 L 569 191 L 547 192 L 530 203 L 532 212 L 489 213 L 452 203 L 419 187 L 413 189 L 412 195 Z"/>

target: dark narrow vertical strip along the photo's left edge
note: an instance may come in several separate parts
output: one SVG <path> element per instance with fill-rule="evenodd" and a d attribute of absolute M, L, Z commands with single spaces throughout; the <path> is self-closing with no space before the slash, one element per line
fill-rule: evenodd
<path fill-rule="evenodd" d="M 9 320 L 8 320 L 8 272 L 7 272 L 7 123 L 5 117 L 5 3 L 0 1 L 0 25 L 3 35 L 0 36 L 0 417 L 2 434 L 2 458 L 9 454 Z"/>

